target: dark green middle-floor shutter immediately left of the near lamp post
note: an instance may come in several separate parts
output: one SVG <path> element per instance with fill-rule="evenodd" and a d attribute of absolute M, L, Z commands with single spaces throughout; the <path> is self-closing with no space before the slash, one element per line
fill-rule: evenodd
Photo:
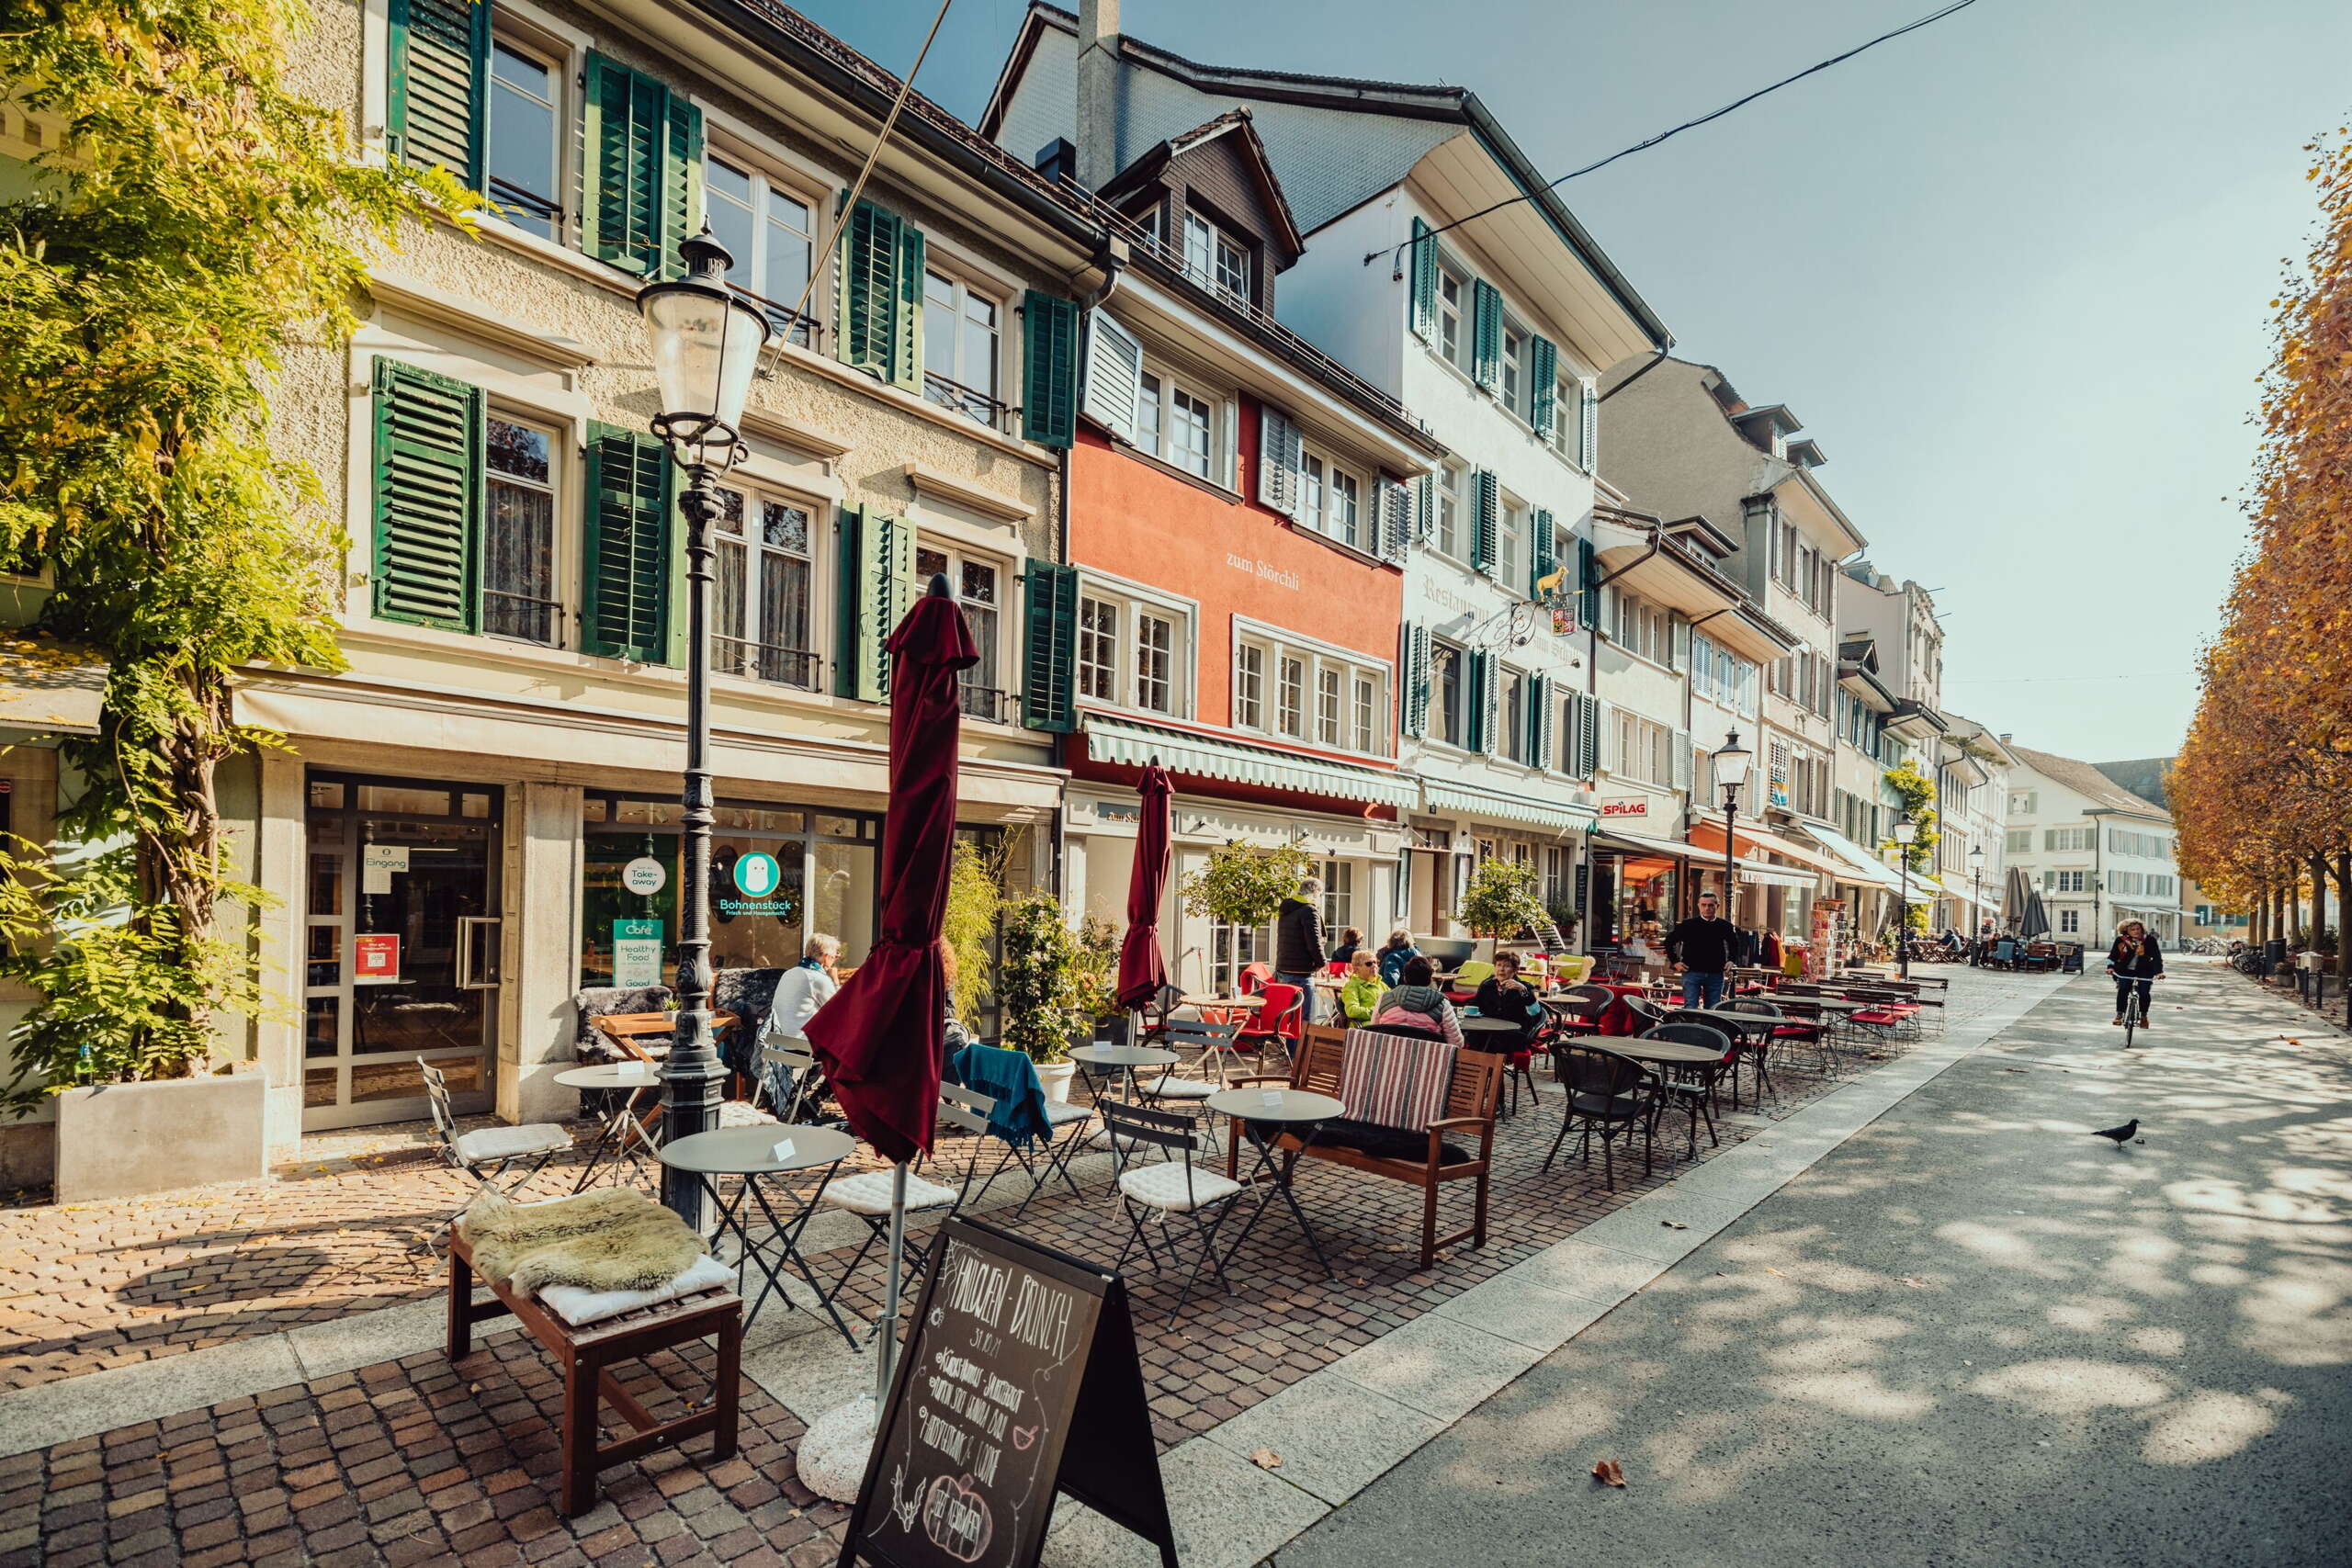
<path fill-rule="evenodd" d="M 670 545 L 675 512 L 670 454 L 659 440 L 619 425 L 588 425 L 588 522 L 581 559 L 586 607 L 581 646 L 604 658 L 673 663 Z"/>

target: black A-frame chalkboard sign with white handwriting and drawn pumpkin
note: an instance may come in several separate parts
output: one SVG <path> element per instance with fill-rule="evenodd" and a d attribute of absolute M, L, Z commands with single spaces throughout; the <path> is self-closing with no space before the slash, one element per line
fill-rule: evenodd
<path fill-rule="evenodd" d="M 1033 1568 L 1054 1493 L 1176 1568 L 1127 1284 L 953 1218 L 931 1246 L 840 1568 Z"/>

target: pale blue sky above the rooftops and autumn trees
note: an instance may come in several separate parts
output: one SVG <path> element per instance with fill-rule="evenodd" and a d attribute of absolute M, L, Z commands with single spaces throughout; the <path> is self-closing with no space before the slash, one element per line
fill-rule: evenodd
<path fill-rule="evenodd" d="M 934 12 L 802 9 L 901 73 Z M 1472 87 L 1566 172 L 1931 9 L 1124 0 L 1122 19 L 1211 63 Z M 1021 14 L 955 0 L 920 87 L 978 118 Z M 1950 708 L 2039 750 L 2164 755 L 2246 536 L 2265 306 L 2312 223 L 2303 143 L 2352 115 L 2347 61 L 2347 0 L 1978 0 L 1564 195 L 1677 353 L 1806 421 L 1872 559 L 1938 590 Z"/>

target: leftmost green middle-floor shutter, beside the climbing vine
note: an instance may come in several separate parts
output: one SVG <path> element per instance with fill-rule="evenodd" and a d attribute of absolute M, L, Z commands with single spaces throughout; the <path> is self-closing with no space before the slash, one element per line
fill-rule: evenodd
<path fill-rule="evenodd" d="M 489 418 L 482 388 L 376 360 L 374 414 L 374 614 L 470 632 Z"/>

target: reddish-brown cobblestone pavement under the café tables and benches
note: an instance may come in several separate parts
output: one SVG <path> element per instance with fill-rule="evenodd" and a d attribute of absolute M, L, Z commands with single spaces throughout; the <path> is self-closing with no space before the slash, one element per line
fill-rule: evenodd
<path fill-rule="evenodd" d="M 1945 1023 L 1964 1025 L 2027 987 L 2046 983 L 1957 976 Z M 1764 1117 L 1724 1119 L 1722 1147 L 1769 1133 L 1773 1117 L 1828 1088 L 1792 1063 L 1773 1077 L 1780 1103 Z M 1653 1178 L 1621 1152 L 1618 1190 L 1609 1192 L 1597 1161 L 1590 1171 L 1573 1161 L 1573 1145 L 1543 1173 L 1557 1131 L 1559 1095 L 1543 1081 L 1543 1098 L 1522 1098 L 1519 1114 L 1498 1128 L 1489 1244 L 1451 1248 L 1428 1272 L 1414 1269 L 1416 1190 L 1317 1164 L 1303 1166 L 1298 1194 L 1334 1260 L 1331 1279 L 1275 1211 L 1228 1265 L 1232 1291 L 1195 1295 L 1169 1326 L 1174 1284 L 1150 1274 L 1141 1253 L 1129 1258 L 1162 1446 L 1237 1415 L 1686 1168 L 1665 1159 L 1684 1147 L 1682 1128 L 1663 1126 Z M 1703 1131 L 1698 1147 L 1700 1157 L 1712 1152 Z M 550 1178 L 569 1185 L 569 1175 Z M 0 1253 L 0 1368 L 19 1385 L 71 1378 L 430 1295 L 440 1267 L 412 1241 L 463 1192 L 461 1178 L 435 1166 L 360 1164 L 162 1204 L 0 1215 L 0 1237 L 16 1248 Z M 1468 1222 L 1468 1192 L 1449 1192 L 1439 1227 Z M 1068 1192 L 1040 1199 L 1021 1229 L 1105 1262 L 1127 1237 L 1101 1178 L 1087 1182 L 1084 1201 Z M 830 1279 L 847 1262 L 849 1253 L 835 1251 L 814 1267 Z M 870 1316 L 877 1291 L 880 1260 L 868 1258 L 842 1300 Z M 663 1354 L 647 1375 L 694 1387 L 689 1361 Z M 684 1458 L 616 1467 L 602 1507 L 557 1521 L 557 1382 L 536 1347 L 494 1340 L 459 1368 L 416 1354 L 0 1460 L 0 1568 L 830 1561 L 835 1547 L 818 1537 L 840 1523 L 840 1509 L 814 1505 L 783 1462 L 797 1420 L 753 1385 L 743 1394 L 741 1460 L 706 1474 L 701 1443 L 689 1443 Z M 40 1516 L 28 1523 L 35 1502 Z"/>

